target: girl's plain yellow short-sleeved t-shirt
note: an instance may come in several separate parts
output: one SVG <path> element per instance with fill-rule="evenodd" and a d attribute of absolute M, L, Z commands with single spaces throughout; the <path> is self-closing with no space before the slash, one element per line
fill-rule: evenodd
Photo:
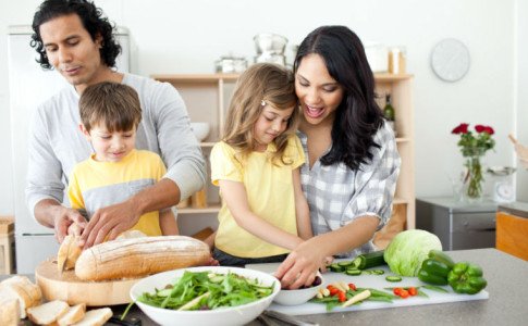
<path fill-rule="evenodd" d="M 305 162 L 305 154 L 295 135 L 288 138 L 284 152 L 285 161 L 292 164 L 271 163 L 270 154 L 274 151 L 275 146 L 270 143 L 265 152 L 251 152 L 241 163 L 235 159 L 235 149 L 220 141 L 211 150 L 211 180 L 216 186 L 219 180 L 244 184 L 249 208 L 257 216 L 297 235 L 292 171 Z M 214 246 L 231 255 L 263 258 L 290 252 L 240 227 L 223 201 L 218 220 Z"/>

